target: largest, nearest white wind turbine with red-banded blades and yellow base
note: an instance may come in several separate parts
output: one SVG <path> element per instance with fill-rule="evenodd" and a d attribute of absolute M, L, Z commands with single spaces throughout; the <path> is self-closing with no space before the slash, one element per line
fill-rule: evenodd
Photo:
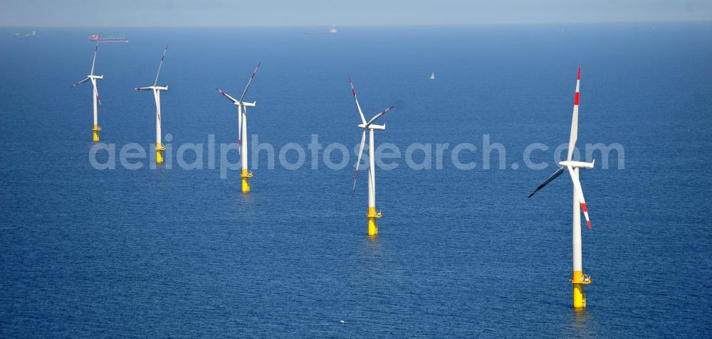
<path fill-rule="evenodd" d="M 568 170 L 569 176 L 573 183 L 573 227 L 572 227 L 572 261 L 573 261 L 573 276 L 569 281 L 573 284 L 573 304 L 574 308 L 582 309 L 586 307 L 586 295 L 583 291 L 583 286 L 591 284 L 591 277 L 584 274 L 582 271 L 582 259 L 581 259 L 581 210 L 583 210 L 583 215 L 586 217 L 586 222 L 588 224 L 589 230 L 591 229 L 591 221 L 588 218 L 588 208 L 586 208 L 586 200 L 583 197 L 583 190 L 581 189 L 581 181 L 579 180 L 579 168 L 592 169 L 595 160 L 586 163 L 582 161 L 573 161 L 572 156 L 574 154 L 574 148 L 576 146 L 576 139 L 578 136 L 578 106 L 579 106 L 579 89 L 581 83 L 581 68 L 578 69 L 578 75 L 576 79 L 576 94 L 574 97 L 574 112 L 571 119 L 571 134 L 569 137 L 569 150 L 565 161 L 561 161 L 559 165 L 561 166 L 557 169 L 546 181 L 539 185 L 530 195 L 531 198 L 534 193 L 544 188 L 548 183 L 553 181 L 555 178 Z"/>

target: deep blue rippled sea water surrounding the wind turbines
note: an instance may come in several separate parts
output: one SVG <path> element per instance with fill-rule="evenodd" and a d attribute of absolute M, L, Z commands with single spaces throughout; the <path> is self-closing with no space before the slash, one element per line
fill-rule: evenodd
<path fill-rule="evenodd" d="M 1 337 L 710 335 L 712 24 L 305 31 L 1 30 Z M 350 197 L 354 154 L 335 171 L 311 168 L 307 150 L 290 171 L 263 153 L 248 195 L 238 171 L 98 171 L 90 86 L 69 87 L 89 70 L 95 33 L 130 38 L 100 44 L 97 61 L 101 137 L 117 153 L 155 139 L 152 96 L 130 89 L 151 85 L 169 43 L 160 83 L 174 156 L 209 134 L 236 141 L 234 106 L 215 87 L 239 95 L 262 60 L 248 129 L 277 151 L 312 134 L 353 149 L 351 76 L 366 115 L 395 105 L 377 144 L 472 143 L 461 160 L 478 166 L 461 171 L 446 151 L 440 170 L 402 154 L 377 171 L 376 239 L 365 176 Z M 579 66 L 578 146 L 624 146 L 624 163 L 612 153 L 602 169 L 596 153 L 581 173 L 593 225 L 581 313 L 570 181 L 527 198 L 568 141 Z M 485 135 L 506 147 L 506 168 L 496 151 L 483 168 Z M 549 147 L 533 155 L 544 170 L 523 166 L 535 142 Z"/>

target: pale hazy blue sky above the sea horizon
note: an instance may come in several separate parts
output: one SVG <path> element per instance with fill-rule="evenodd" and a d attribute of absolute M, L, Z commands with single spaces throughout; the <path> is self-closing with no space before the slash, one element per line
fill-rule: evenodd
<path fill-rule="evenodd" d="M 0 26 L 374 26 L 709 21 L 712 0 L 0 0 Z"/>

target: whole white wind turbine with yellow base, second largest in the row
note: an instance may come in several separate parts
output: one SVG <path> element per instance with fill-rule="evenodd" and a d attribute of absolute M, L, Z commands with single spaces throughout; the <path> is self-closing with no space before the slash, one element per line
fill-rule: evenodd
<path fill-rule="evenodd" d="M 381 117 L 383 114 L 386 114 L 389 110 L 393 108 L 393 106 L 388 107 L 387 109 L 382 110 L 375 116 L 373 116 L 369 121 L 366 121 L 366 118 L 363 116 L 363 112 L 361 111 L 361 106 L 358 103 L 358 98 L 356 97 L 356 89 L 354 88 L 354 84 L 351 81 L 351 77 L 349 77 L 349 83 L 351 85 L 351 92 L 354 94 L 354 99 L 356 100 L 356 108 L 358 109 L 358 114 L 361 117 L 361 124 L 358 125 L 360 129 L 363 129 L 363 134 L 361 134 L 361 146 L 359 146 L 359 151 L 358 151 L 358 159 L 356 161 L 356 174 L 354 175 L 354 186 L 351 190 L 351 194 L 353 195 L 353 191 L 356 189 L 356 178 L 358 178 L 358 166 L 361 163 L 361 155 L 363 154 L 363 148 L 366 143 L 366 132 L 368 131 L 369 138 L 368 138 L 368 159 L 369 159 L 369 166 L 368 166 L 368 214 L 366 217 L 368 218 L 368 235 L 369 237 L 375 237 L 378 235 L 378 225 L 376 225 L 376 219 L 379 217 L 382 217 L 383 214 L 381 212 L 376 212 L 376 171 L 375 171 L 375 160 L 374 160 L 374 141 L 373 141 L 373 131 L 385 131 L 386 130 L 386 125 L 375 125 L 373 124 L 376 119 Z"/>

